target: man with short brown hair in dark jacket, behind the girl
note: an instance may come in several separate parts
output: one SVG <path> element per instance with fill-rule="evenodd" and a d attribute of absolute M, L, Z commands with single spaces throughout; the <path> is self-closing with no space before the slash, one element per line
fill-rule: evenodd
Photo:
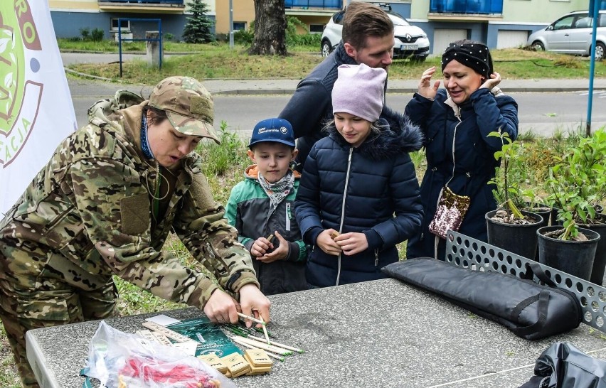
<path fill-rule="evenodd" d="M 387 70 L 393 57 L 393 23 L 376 5 L 355 2 L 347 6 L 342 41 L 333 53 L 299 82 L 280 118 L 292 124 L 299 155 L 297 171 L 316 141 L 326 136 L 324 125 L 332 118 L 331 92 L 340 65 L 359 65 Z M 387 82 L 386 82 L 387 89 Z"/>

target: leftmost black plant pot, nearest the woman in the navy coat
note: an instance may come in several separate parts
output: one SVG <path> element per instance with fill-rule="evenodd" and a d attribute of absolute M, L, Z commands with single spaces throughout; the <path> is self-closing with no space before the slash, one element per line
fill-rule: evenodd
<path fill-rule="evenodd" d="M 529 225 L 504 224 L 492 220 L 496 210 L 487 212 L 485 217 L 488 243 L 511 253 L 519 254 L 521 257 L 534 260 L 537 242 L 536 231 L 541 227 L 543 217 L 526 210 L 521 210 L 521 212 L 523 215 L 531 215 L 536 222 Z"/>

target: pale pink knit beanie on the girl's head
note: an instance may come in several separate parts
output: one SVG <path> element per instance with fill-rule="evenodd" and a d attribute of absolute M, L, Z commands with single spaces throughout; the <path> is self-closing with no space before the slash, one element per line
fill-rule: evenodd
<path fill-rule="evenodd" d="M 361 65 L 339 66 L 332 88 L 332 112 L 349 113 L 376 122 L 383 109 L 387 72 Z"/>

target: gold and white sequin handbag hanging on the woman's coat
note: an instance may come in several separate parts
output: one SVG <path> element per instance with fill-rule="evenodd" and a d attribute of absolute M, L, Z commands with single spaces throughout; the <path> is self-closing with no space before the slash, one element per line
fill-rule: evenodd
<path fill-rule="evenodd" d="M 457 232 L 463 217 L 469 209 L 469 203 L 472 198 L 467 195 L 458 195 L 452 193 L 448 186 L 444 186 L 440 191 L 440 199 L 437 201 L 437 209 L 433 220 L 430 222 L 430 232 L 434 235 L 446 238 L 449 230 Z"/>

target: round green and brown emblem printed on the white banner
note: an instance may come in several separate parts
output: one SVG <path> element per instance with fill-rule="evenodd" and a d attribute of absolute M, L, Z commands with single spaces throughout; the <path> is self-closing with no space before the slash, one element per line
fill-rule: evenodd
<path fill-rule="evenodd" d="M 32 58 L 27 64 L 26 50 L 41 52 L 28 1 L 0 1 L 0 164 L 5 166 L 26 143 L 41 97 L 42 85 L 26 79 L 26 66 L 38 72 L 40 63 Z"/>

